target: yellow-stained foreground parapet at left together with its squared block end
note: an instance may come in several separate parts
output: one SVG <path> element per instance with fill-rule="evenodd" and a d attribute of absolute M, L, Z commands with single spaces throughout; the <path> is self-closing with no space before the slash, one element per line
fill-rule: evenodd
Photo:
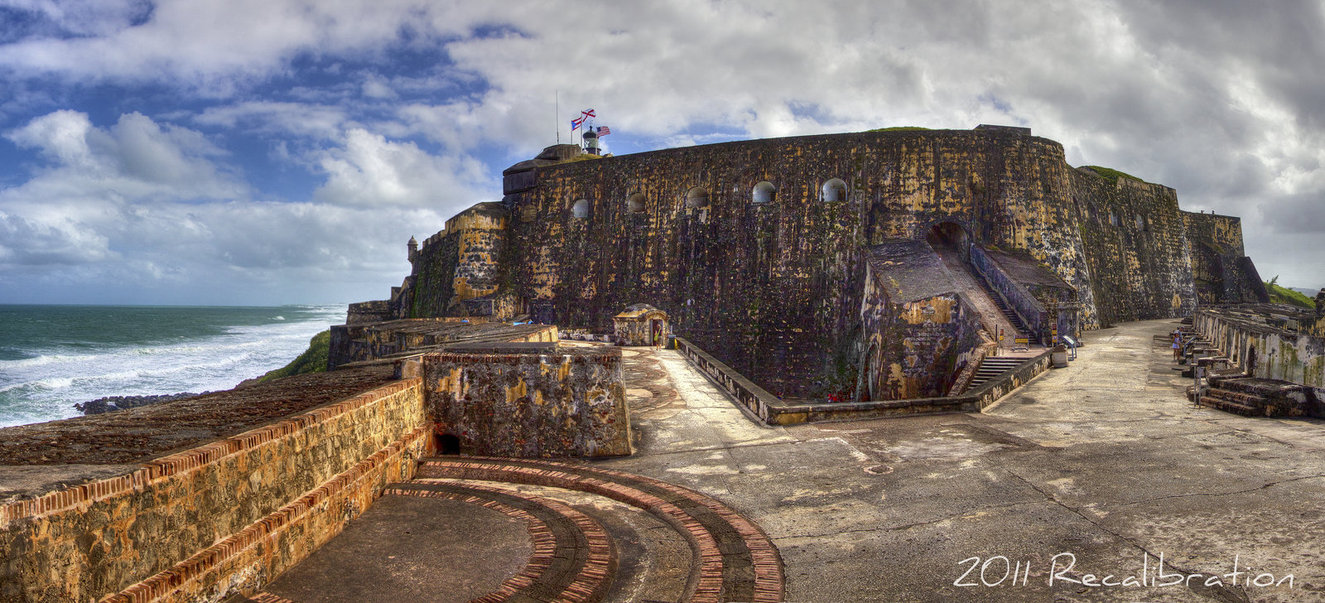
<path fill-rule="evenodd" d="M 20 486 L 0 482 L 0 602 L 228 600 L 298 565 L 433 452 L 632 452 L 616 350 L 481 342 L 399 362 L 403 379 L 140 464 L 0 465 Z M 125 419 L 101 435 L 146 439 Z M 24 429 L 77 457 L 89 445 L 58 437 L 77 420 Z"/>

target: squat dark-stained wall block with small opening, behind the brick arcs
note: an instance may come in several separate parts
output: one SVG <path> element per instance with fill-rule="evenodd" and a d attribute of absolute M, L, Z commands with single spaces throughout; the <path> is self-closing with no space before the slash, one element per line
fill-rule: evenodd
<path fill-rule="evenodd" d="M 510 457 L 631 453 L 621 354 L 428 354 L 428 412 L 460 452 Z"/>

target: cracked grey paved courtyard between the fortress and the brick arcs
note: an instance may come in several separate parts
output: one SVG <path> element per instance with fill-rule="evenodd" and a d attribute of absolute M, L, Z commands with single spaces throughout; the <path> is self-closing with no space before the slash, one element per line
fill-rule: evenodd
<path fill-rule="evenodd" d="M 1154 339 L 1174 326 L 1093 331 L 982 415 L 790 428 L 673 351 L 627 350 L 677 395 L 632 390 L 639 453 L 602 465 L 758 522 L 788 600 L 1325 599 L 1325 423 L 1194 408 Z"/>

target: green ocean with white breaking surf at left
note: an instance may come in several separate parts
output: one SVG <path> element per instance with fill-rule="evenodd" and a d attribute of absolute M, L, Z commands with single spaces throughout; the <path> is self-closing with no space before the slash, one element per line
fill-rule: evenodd
<path fill-rule="evenodd" d="M 118 395 L 229 390 L 280 368 L 346 306 L 0 305 L 0 427 Z"/>

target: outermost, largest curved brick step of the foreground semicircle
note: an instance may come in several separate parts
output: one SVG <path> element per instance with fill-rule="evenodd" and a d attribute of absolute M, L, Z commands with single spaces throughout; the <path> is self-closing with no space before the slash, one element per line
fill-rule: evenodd
<path fill-rule="evenodd" d="M 485 457 L 425 459 L 416 477 L 530 484 L 612 498 L 652 513 L 690 542 L 697 563 L 689 600 L 779 602 L 783 596 L 782 558 L 763 530 L 686 488 L 590 465 Z"/>

